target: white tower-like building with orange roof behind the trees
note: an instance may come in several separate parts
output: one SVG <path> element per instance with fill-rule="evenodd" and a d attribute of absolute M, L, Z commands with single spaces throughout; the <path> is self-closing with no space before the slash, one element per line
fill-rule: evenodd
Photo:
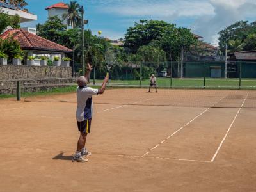
<path fill-rule="evenodd" d="M 48 17 L 57 16 L 60 20 L 63 20 L 62 16 L 64 13 L 67 13 L 68 6 L 67 4 L 61 2 L 53 4 L 52 6 L 48 6 L 47 8 L 45 8 L 45 10 L 48 11 Z M 62 23 L 67 26 L 67 19 L 63 20 Z"/>

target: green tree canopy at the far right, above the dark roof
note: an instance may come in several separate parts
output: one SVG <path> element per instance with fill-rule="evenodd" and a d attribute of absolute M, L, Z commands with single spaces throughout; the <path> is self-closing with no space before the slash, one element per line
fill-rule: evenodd
<path fill-rule="evenodd" d="M 248 24 L 248 21 L 239 21 L 236 22 L 227 28 L 221 30 L 219 35 L 219 47 L 222 52 L 225 52 L 225 45 L 227 44 L 227 49 L 232 49 L 232 45 L 230 45 L 228 42 L 230 40 L 239 40 L 241 41 L 241 44 L 245 43 L 244 41 L 246 38 L 248 38 L 249 35 L 256 33 L 256 22 L 252 22 Z M 246 45 L 243 44 L 243 47 L 246 47 Z M 246 51 L 250 49 L 249 47 L 253 47 L 252 45 L 248 46 Z M 252 49 L 251 49 L 252 50 Z"/>

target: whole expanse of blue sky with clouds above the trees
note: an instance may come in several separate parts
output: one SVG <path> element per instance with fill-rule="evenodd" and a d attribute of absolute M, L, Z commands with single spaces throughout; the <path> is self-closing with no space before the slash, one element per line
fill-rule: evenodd
<path fill-rule="evenodd" d="M 38 15 L 35 27 L 47 20 L 45 8 L 61 0 L 26 0 L 29 12 Z M 62 2 L 68 3 L 68 0 Z M 112 40 L 124 37 L 140 19 L 164 20 L 191 29 L 205 42 L 218 45 L 218 31 L 239 20 L 256 20 L 256 0 L 77 0 L 85 8 L 86 28 Z"/>

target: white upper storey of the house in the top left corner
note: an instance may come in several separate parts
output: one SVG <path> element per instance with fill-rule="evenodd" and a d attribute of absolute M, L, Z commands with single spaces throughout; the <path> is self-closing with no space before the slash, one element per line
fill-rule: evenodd
<path fill-rule="evenodd" d="M 33 15 L 32 13 L 25 12 L 24 10 L 20 10 L 16 6 L 13 6 L 8 3 L 3 3 L 0 1 L 0 10 L 3 13 L 6 13 L 8 15 L 19 15 L 20 16 L 20 22 L 28 22 L 28 21 L 33 21 L 37 20 L 37 15 Z"/>

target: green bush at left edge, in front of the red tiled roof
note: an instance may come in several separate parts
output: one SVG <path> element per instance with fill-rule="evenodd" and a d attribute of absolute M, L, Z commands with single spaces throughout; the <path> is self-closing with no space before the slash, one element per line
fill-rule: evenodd
<path fill-rule="evenodd" d="M 24 56 L 20 44 L 13 36 L 8 36 L 5 40 L 0 39 L 0 51 L 4 52 L 11 60 L 14 56 Z"/>

